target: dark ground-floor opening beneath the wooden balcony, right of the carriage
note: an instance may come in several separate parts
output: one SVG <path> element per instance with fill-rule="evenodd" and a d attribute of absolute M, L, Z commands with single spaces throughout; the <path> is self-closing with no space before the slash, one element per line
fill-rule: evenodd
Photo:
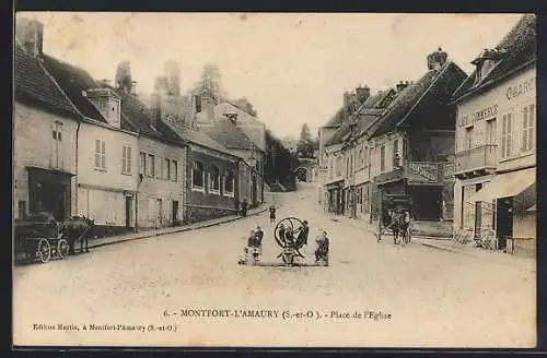
<path fill-rule="evenodd" d="M 409 186 L 408 194 L 418 220 L 438 222 L 442 217 L 442 186 Z"/>

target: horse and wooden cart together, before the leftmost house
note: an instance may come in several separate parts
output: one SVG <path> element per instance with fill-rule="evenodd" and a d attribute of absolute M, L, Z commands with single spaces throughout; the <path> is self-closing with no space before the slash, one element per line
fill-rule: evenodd
<path fill-rule="evenodd" d="M 43 263 L 51 258 L 65 259 L 73 252 L 78 240 L 83 251 L 83 241 L 88 243 L 85 237 L 92 226 L 93 222 L 85 218 L 57 222 L 48 213 L 35 214 L 14 225 L 15 255 L 24 254 L 26 261 Z"/>

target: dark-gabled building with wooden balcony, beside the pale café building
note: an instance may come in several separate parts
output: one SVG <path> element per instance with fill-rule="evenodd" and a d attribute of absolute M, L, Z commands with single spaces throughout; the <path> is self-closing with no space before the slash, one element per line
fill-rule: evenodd
<path fill-rule="evenodd" d="M 371 151 L 372 215 L 384 193 L 407 194 L 417 220 L 452 219 L 455 116 L 449 106 L 465 72 L 439 49 L 428 71 L 404 83 L 377 121 L 365 130 Z"/>

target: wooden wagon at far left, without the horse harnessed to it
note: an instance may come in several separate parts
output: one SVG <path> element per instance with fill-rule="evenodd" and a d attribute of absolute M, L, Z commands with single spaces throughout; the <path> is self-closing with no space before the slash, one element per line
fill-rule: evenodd
<path fill-rule="evenodd" d="M 59 223 L 50 215 L 37 214 L 15 223 L 15 254 L 23 253 L 28 261 L 48 262 L 51 258 L 65 259 L 69 242 L 63 238 Z"/>

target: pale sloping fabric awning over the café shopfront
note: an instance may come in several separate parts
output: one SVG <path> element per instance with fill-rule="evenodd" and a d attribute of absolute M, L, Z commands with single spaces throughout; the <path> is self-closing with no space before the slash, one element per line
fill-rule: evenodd
<path fill-rule="evenodd" d="M 536 181 L 536 168 L 497 175 L 485 188 L 477 191 L 470 202 L 489 202 L 497 198 L 514 196 Z"/>

